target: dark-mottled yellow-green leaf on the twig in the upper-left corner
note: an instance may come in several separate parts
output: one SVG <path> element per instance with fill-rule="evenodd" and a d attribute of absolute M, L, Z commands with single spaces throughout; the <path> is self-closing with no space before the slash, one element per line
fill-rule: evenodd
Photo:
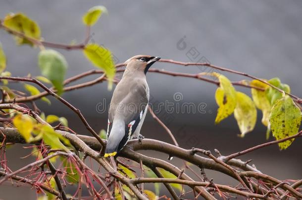
<path fill-rule="evenodd" d="M 41 31 L 38 24 L 28 18 L 23 13 L 17 14 L 9 14 L 4 18 L 3 25 L 12 29 L 13 31 L 17 31 L 19 33 L 24 34 L 25 36 L 33 39 L 40 40 Z M 25 38 L 22 37 L 15 37 L 17 44 L 30 44 L 33 43 Z"/>

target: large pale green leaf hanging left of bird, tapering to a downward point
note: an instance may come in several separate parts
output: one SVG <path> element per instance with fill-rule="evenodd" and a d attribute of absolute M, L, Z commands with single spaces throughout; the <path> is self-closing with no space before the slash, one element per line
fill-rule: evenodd
<path fill-rule="evenodd" d="M 64 56 L 55 50 L 42 50 L 39 53 L 41 73 L 51 81 L 58 95 L 63 92 L 63 81 L 67 66 Z"/>

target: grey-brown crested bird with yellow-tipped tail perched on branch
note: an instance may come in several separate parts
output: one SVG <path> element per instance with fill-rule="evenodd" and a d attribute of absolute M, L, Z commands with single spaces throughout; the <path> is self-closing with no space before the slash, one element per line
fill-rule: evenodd
<path fill-rule="evenodd" d="M 140 131 L 150 97 L 146 74 L 159 59 L 136 55 L 125 62 L 126 69 L 113 91 L 109 105 L 105 158 L 114 157 L 130 139 L 144 138 Z"/>

